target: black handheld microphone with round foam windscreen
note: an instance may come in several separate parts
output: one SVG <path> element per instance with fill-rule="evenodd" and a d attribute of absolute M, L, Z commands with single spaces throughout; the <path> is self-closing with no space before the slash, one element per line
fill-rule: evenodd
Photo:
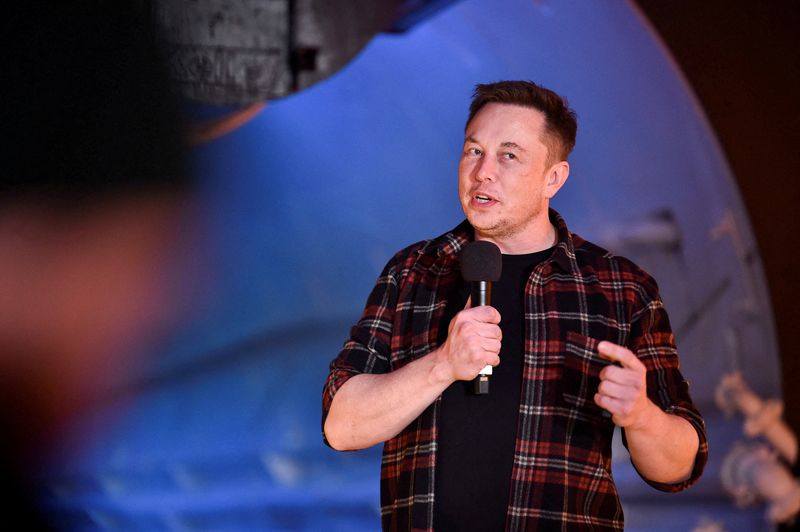
<path fill-rule="evenodd" d="M 461 275 L 472 283 L 470 294 L 472 306 L 480 307 L 492 304 L 492 283 L 500 279 L 503 269 L 503 258 L 492 242 L 476 240 L 464 246 L 461 252 Z M 486 365 L 473 382 L 473 393 L 483 395 L 489 393 L 489 375 L 492 366 Z"/>

